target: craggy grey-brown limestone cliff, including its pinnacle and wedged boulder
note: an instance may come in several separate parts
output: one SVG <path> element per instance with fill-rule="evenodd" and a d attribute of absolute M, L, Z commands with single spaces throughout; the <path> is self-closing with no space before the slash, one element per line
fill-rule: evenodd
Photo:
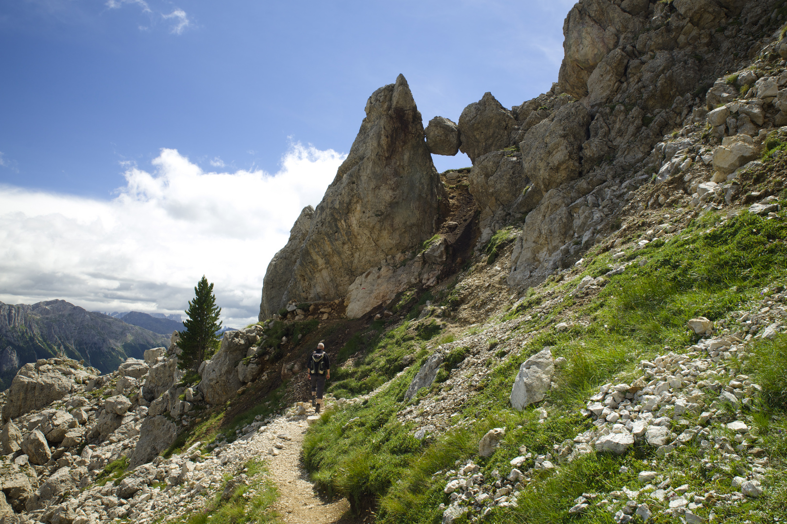
<path fill-rule="evenodd" d="M 551 90 L 511 109 L 485 93 L 458 124 L 431 119 L 426 142 L 400 76 L 369 99 L 349 158 L 309 232 L 294 227 L 274 258 L 260 319 L 288 302 L 343 297 L 348 311 L 364 314 L 401 286 L 424 284 L 423 269 L 391 259 L 435 230 L 441 186 L 430 152 L 458 149 L 473 163 L 467 184 L 478 209 L 476 252 L 498 229 L 521 226 L 508 284 L 528 287 L 567 267 L 611 233 L 631 189 L 678 170 L 664 166 L 685 147 L 673 150 L 665 134 L 686 137 L 708 126 L 712 134 L 703 138 L 719 141 L 787 123 L 780 111 L 787 108 L 787 94 L 779 91 L 784 82 L 775 76 L 744 71 L 735 85 L 719 80 L 751 64 L 762 42 L 772 48 L 762 57 L 782 47 L 787 54 L 775 42 L 778 34 L 767 34 L 778 21 L 771 10 L 769 2 L 742 0 L 578 2 L 563 25 L 565 57 Z M 363 306 L 352 306 L 361 295 Z"/>

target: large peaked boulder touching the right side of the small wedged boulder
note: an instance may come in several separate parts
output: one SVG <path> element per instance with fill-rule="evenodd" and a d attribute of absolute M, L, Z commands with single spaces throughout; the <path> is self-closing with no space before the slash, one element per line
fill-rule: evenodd
<path fill-rule="evenodd" d="M 484 93 L 481 100 L 464 108 L 459 117 L 459 150 L 475 164 L 479 156 L 511 145 L 515 123 L 511 112 L 492 93 Z"/>

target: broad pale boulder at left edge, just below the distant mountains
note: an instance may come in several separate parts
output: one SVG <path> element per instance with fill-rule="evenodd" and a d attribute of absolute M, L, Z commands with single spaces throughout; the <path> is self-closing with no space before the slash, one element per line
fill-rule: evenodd
<path fill-rule="evenodd" d="M 74 361 L 50 365 L 46 361 L 25 364 L 13 378 L 3 407 L 3 420 L 15 419 L 41 409 L 66 394 L 81 389 L 91 374 Z"/>

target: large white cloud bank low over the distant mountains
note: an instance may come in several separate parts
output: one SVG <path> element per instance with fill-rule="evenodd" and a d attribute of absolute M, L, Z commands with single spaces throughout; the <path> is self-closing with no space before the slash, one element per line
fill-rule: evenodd
<path fill-rule="evenodd" d="M 109 201 L 0 185 L 0 301 L 182 313 L 205 274 L 224 324 L 249 324 L 268 262 L 344 158 L 297 144 L 274 175 L 206 173 L 162 149 Z"/>

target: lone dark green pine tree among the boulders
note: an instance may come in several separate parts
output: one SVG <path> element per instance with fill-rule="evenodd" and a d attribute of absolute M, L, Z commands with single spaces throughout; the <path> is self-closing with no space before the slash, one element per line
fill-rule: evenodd
<path fill-rule="evenodd" d="M 178 367 L 196 373 L 202 361 L 212 357 L 219 347 L 216 332 L 221 328 L 219 314 L 221 308 L 216 307 L 216 296 L 213 295 L 213 284 L 208 284 L 205 275 L 194 288 L 194 300 L 189 301 L 186 310 L 188 319 L 183 321 L 186 328 L 179 332 Z"/>

